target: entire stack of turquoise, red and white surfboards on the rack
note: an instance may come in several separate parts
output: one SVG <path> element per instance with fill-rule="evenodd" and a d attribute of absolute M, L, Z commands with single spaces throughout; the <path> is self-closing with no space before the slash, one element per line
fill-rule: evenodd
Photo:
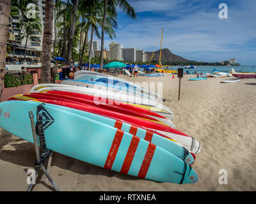
<path fill-rule="evenodd" d="M 28 112 L 41 113 L 55 152 L 142 179 L 195 183 L 200 142 L 175 129 L 162 101 L 127 80 L 77 71 L 75 80 L 36 85 L 0 103 L 0 126 L 33 142 Z"/>

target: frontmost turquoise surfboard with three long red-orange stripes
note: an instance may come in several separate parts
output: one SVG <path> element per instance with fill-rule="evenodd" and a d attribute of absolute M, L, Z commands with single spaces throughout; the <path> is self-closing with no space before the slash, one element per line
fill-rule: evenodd
<path fill-rule="evenodd" d="M 198 180 L 191 166 L 161 147 L 64 109 L 35 101 L 5 101 L 0 103 L 0 126 L 33 142 L 28 112 L 38 112 L 43 116 L 47 148 L 55 152 L 157 182 Z"/>

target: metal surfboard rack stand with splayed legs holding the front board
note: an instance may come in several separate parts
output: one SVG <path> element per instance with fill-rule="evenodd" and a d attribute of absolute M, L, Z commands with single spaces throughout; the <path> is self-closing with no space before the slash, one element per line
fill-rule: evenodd
<path fill-rule="evenodd" d="M 40 113 L 36 113 L 36 118 L 37 118 L 37 122 L 36 122 L 36 126 L 35 126 L 34 114 L 33 114 L 32 111 L 29 111 L 29 119 L 30 119 L 30 122 L 31 122 L 31 129 L 32 129 L 32 133 L 33 133 L 33 140 L 34 140 L 35 152 L 36 152 L 35 177 L 33 177 L 33 178 L 36 178 L 36 174 L 37 174 L 38 170 L 40 169 L 40 170 L 43 171 L 46 178 L 51 182 L 54 189 L 56 191 L 60 191 L 60 189 L 56 186 L 54 180 L 52 180 L 52 178 L 51 178 L 51 176 L 48 172 L 49 168 L 51 166 L 52 151 L 47 149 L 47 147 L 46 147 L 45 135 L 44 135 L 44 126 L 43 126 L 43 122 L 42 122 L 42 115 Z M 36 135 L 39 136 L 41 152 L 39 151 Z M 45 167 L 44 167 L 44 161 L 48 157 L 49 157 L 49 160 L 48 160 L 47 170 L 46 170 Z M 47 183 L 47 180 L 46 180 L 46 183 Z M 35 180 L 32 180 L 31 183 L 28 186 L 27 191 L 31 191 L 34 184 L 35 184 Z"/>

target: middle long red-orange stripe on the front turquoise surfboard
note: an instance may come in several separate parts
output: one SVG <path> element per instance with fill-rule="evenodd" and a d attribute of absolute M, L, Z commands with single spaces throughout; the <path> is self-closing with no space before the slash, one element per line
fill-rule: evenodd
<path fill-rule="evenodd" d="M 129 149 L 127 151 L 127 154 L 124 159 L 124 163 L 123 163 L 121 171 L 120 171 L 121 173 L 127 174 L 129 172 L 129 169 L 131 167 L 132 160 L 133 160 L 134 154 L 137 150 L 139 142 L 140 142 L 140 138 L 138 138 L 138 136 L 132 137 L 131 143 L 129 145 Z"/>

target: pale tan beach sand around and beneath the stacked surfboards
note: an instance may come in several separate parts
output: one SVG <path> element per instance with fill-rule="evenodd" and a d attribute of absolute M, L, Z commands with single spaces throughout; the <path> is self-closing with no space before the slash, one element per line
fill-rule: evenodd
<path fill-rule="evenodd" d="M 223 78 L 189 81 L 179 78 L 125 77 L 132 82 L 163 82 L 163 104 L 174 113 L 176 129 L 202 143 L 193 169 L 195 184 L 170 184 L 137 179 L 77 161 L 54 152 L 51 176 L 61 191 L 256 191 L 256 79 L 222 84 Z M 233 78 L 233 77 L 230 77 Z M 26 191 L 26 171 L 35 150 L 29 142 L 0 131 L 0 191 Z M 227 184 L 220 184 L 220 170 Z M 221 173 L 221 172 L 220 172 Z M 39 182 L 40 180 L 40 182 Z M 33 191 L 52 191 L 42 174 Z"/>

